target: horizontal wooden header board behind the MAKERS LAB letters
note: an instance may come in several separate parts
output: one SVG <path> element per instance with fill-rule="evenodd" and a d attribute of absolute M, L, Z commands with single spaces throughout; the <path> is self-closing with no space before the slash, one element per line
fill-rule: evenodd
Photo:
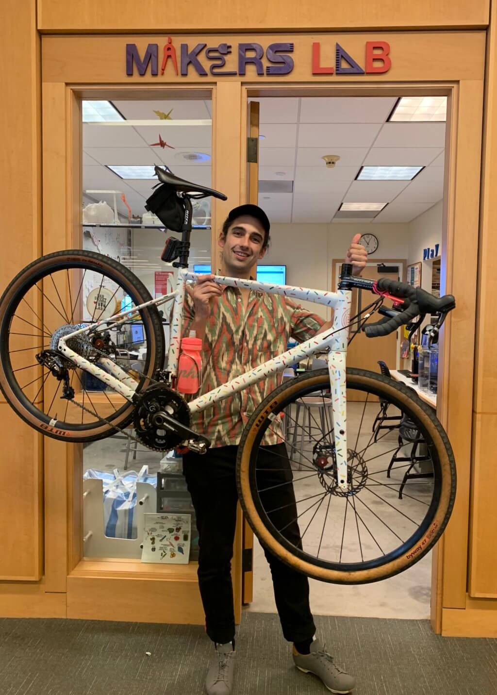
<path fill-rule="evenodd" d="M 174 47 L 179 52 L 179 44 L 187 42 L 192 47 L 197 39 L 191 35 L 178 35 L 174 37 Z M 357 75 L 314 75 L 312 74 L 312 43 L 320 41 L 321 58 L 323 65 L 334 64 L 335 42 L 339 42 L 359 63 L 364 63 L 366 41 L 384 40 L 391 47 L 391 69 L 383 74 Z M 198 38 L 202 41 L 202 38 Z M 478 79 L 484 70 L 484 31 L 447 31 L 444 33 L 350 33 L 332 35 L 309 34 L 278 34 L 278 35 L 222 35 L 209 37 L 209 45 L 217 46 L 222 42 L 231 44 L 232 53 L 227 56 L 226 70 L 238 70 L 236 62 L 238 42 L 258 42 L 267 47 L 273 41 L 292 42 L 294 46 L 294 67 L 290 74 L 278 76 L 278 83 L 295 83 L 296 81 L 309 81 L 313 83 L 332 83 L 343 85 L 349 81 L 352 83 L 389 83 L 392 81 L 428 82 L 440 80 Z M 186 84 L 198 83 L 199 75 L 193 69 L 188 75 L 177 76 L 170 67 L 163 76 L 149 74 L 140 76 L 138 70 L 134 70 L 132 76 L 126 74 L 126 44 L 136 43 L 140 55 L 145 54 L 149 43 L 157 43 L 161 47 L 164 37 L 158 35 L 112 35 L 112 36 L 44 36 L 42 37 L 42 66 L 43 81 L 65 82 L 68 84 L 137 84 L 137 85 L 164 85 L 168 83 Z M 160 51 L 160 49 L 159 49 Z M 81 60 L 84 56 L 84 60 Z M 429 57 L 427 57 L 429 56 Z M 436 61 L 433 56 L 436 56 Z M 464 56 L 464 60 L 462 59 Z M 205 62 L 205 58 L 202 58 Z M 274 76 L 257 76 L 255 67 L 248 65 L 246 81 L 259 84 L 274 82 Z M 215 78 L 204 76 L 202 80 L 209 84 Z M 225 75 L 218 79 L 222 85 L 230 81 L 238 82 L 241 77 L 238 74 Z"/>

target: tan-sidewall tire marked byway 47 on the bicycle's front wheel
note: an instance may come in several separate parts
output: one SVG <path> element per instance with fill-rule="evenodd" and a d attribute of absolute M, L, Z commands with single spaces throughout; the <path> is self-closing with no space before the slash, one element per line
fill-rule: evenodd
<path fill-rule="evenodd" d="M 432 412 L 430 412 L 430 407 L 425 405 L 417 396 L 412 398 L 412 395 L 405 386 L 373 372 L 348 369 L 347 383 L 350 388 L 353 389 L 355 386 L 361 385 L 374 386 L 375 389 L 382 389 L 386 398 L 395 398 L 397 401 L 405 402 L 412 413 L 425 425 L 426 430 L 430 433 L 430 436 L 432 436 L 432 441 L 437 448 L 440 460 L 442 481 L 439 505 L 432 523 L 430 523 L 423 537 L 419 539 L 412 548 L 407 549 L 400 557 L 388 564 L 377 566 L 373 569 L 346 572 L 319 567 L 305 562 L 300 557 L 295 557 L 295 555 L 292 555 L 292 553 L 282 546 L 277 539 L 272 537 L 272 534 L 268 531 L 266 525 L 264 525 L 259 516 L 259 512 L 257 512 L 250 489 L 250 455 L 256 435 L 260 431 L 268 415 L 274 411 L 278 404 L 288 397 L 291 397 L 293 394 L 298 393 L 304 384 L 307 386 L 314 386 L 316 389 L 318 385 L 323 384 L 323 376 L 326 376 L 326 371 L 319 370 L 319 372 L 316 372 L 316 376 L 305 376 L 300 379 L 295 379 L 295 382 L 291 384 L 284 384 L 284 386 L 280 386 L 279 389 L 273 391 L 259 408 L 256 409 L 245 427 L 238 448 L 236 469 L 238 495 L 240 496 L 245 517 L 256 536 L 263 546 L 266 546 L 268 550 L 277 555 L 277 557 L 282 559 L 283 562 L 286 562 L 286 564 L 291 565 L 294 569 L 311 578 L 325 582 L 334 582 L 337 584 L 366 584 L 368 582 L 377 582 L 398 574 L 407 569 L 407 567 L 418 562 L 423 555 L 432 549 L 443 532 L 448 522 L 450 512 L 452 511 L 455 498 L 456 480 L 452 449 L 450 448 L 446 433 L 443 431 L 438 420 L 434 418 Z"/>

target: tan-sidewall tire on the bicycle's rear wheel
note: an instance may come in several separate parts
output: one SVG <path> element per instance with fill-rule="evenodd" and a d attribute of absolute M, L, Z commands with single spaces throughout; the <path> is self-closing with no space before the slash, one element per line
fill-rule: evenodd
<path fill-rule="evenodd" d="M 63 260 L 68 262 L 83 261 L 88 264 L 91 263 L 92 265 L 99 266 L 102 270 L 105 270 L 106 268 L 111 269 L 114 275 L 116 273 L 120 274 L 122 277 L 122 281 L 124 282 L 124 284 L 127 285 L 129 285 L 131 279 L 131 277 L 129 276 L 132 276 L 133 285 L 135 287 L 136 292 L 140 296 L 143 295 L 142 301 L 146 302 L 147 300 L 152 299 L 152 297 L 147 297 L 147 289 L 145 288 L 145 286 L 142 286 L 141 281 L 128 270 L 127 272 L 122 272 L 120 263 L 117 263 L 117 261 L 112 261 L 111 259 L 109 262 L 109 259 L 107 259 L 106 257 L 101 256 L 100 254 L 95 254 L 90 251 L 79 252 L 78 250 L 74 250 L 67 252 L 56 252 L 54 254 L 43 256 L 41 259 L 38 259 L 38 261 L 34 261 L 26 268 L 21 270 L 10 283 L 8 288 L 6 288 L 6 291 L 3 293 L 3 296 L 0 300 L 0 327 L 3 325 L 6 309 L 10 304 L 10 301 L 13 299 L 15 294 L 22 288 L 22 286 L 24 286 L 26 280 L 31 277 L 31 275 L 33 274 L 34 266 L 36 267 L 36 271 L 38 272 L 38 270 L 42 270 L 43 267 L 48 269 L 51 266 L 54 266 L 54 264 L 56 264 L 57 262 Z M 54 268 L 54 270 L 56 270 L 56 268 Z M 143 294 L 143 291 L 145 291 L 145 294 Z M 154 316 L 154 313 L 156 313 L 156 316 Z M 158 316 L 158 311 L 156 307 L 152 307 L 152 310 L 147 310 L 147 314 L 146 316 L 144 316 L 144 321 L 145 320 L 149 325 L 150 335 L 154 336 L 154 340 L 150 345 L 149 368 L 147 375 L 145 375 L 149 377 L 152 376 L 154 370 L 156 369 L 157 359 L 161 359 L 158 352 L 162 352 L 163 354 L 163 344 L 159 346 L 156 345 L 157 336 L 156 326 L 154 327 L 154 321 L 158 321 L 160 323 L 160 317 Z M 24 422 L 28 423 L 28 425 L 31 425 L 31 427 L 33 427 L 35 430 L 38 430 L 38 432 L 46 434 L 47 436 L 51 436 L 54 439 L 73 442 L 96 441 L 97 439 L 103 439 L 104 437 L 109 436 L 113 434 L 113 432 L 117 431 L 114 428 L 109 427 L 109 425 L 106 425 L 106 423 L 102 423 L 101 427 L 92 428 L 91 434 L 90 430 L 63 430 L 42 423 L 40 418 L 37 418 L 35 414 L 33 414 L 31 411 L 28 411 L 26 407 L 24 407 L 24 404 L 22 404 L 22 402 L 18 400 L 17 395 L 15 395 L 15 393 L 11 389 L 10 384 L 8 383 L 8 379 L 6 377 L 6 373 L 4 371 L 3 356 L 0 356 L 0 389 L 3 392 L 3 395 L 5 395 L 8 404 L 10 404 L 10 407 L 12 407 L 15 410 L 15 412 L 19 415 L 20 418 L 24 420 Z M 129 404 L 129 408 L 123 411 L 123 413 L 119 416 L 119 418 L 115 420 L 115 422 L 113 422 L 113 424 L 117 427 L 124 427 L 131 420 L 133 416 L 133 409 L 133 404 Z"/>

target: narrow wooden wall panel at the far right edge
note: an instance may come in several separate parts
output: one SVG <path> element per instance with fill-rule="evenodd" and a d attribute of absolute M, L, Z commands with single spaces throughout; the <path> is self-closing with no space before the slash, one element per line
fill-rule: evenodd
<path fill-rule="evenodd" d="M 497 229 L 497 3 L 487 47 L 478 313 L 473 402 L 473 475 L 469 546 L 469 594 L 497 598 L 497 273 L 494 236 Z M 497 605 L 497 604 L 496 604 Z M 497 612 L 496 612 L 497 634 Z"/>

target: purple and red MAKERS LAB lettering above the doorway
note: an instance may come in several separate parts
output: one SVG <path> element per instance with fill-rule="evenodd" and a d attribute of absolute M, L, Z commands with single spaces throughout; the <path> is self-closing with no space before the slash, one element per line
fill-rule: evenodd
<path fill-rule="evenodd" d="M 126 74 L 132 76 L 136 70 L 141 76 L 149 74 L 154 77 L 159 74 L 205 77 L 209 72 L 214 76 L 282 76 L 291 74 L 295 60 L 307 63 L 313 75 L 381 74 L 390 70 L 390 45 L 386 41 L 366 41 L 361 56 L 357 53 L 352 56 L 341 44 L 335 43 L 333 65 L 322 62 L 322 43 L 329 49 L 325 42 L 313 42 L 303 55 L 300 46 L 297 55 L 293 43 L 271 43 L 268 46 L 259 43 L 208 46 L 204 42 L 175 45 L 168 37 L 163 46 L 149 43 L 145 51 L 140 51 L 136 44 L 126 44 Z"/>

